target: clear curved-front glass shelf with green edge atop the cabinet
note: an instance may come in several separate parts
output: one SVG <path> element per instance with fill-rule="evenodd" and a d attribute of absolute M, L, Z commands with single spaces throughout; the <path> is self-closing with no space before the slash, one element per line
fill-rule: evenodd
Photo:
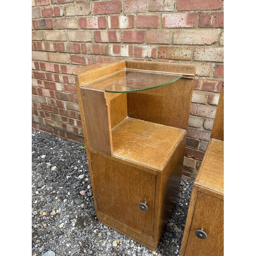
<path fill-rule="evenodd" d="M 154 89 L 175 82 L 180 74 L 126 69 L 86 85 L 110 93 L 130 93 Z"/>

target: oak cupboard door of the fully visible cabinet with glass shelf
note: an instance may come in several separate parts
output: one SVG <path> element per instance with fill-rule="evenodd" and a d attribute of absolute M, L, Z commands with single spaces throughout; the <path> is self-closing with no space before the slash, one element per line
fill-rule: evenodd
<path fill-rule="evenodd" d="M 156 175 L 94 154 L 92 163 L 97 210 L 153 237 Z"/>

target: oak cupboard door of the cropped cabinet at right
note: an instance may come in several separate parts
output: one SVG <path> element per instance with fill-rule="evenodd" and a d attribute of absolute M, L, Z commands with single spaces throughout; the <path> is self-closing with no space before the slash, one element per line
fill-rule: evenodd
<path fill-rule="evenodd" d="M 221 256 L 224 254 L 224 201 L 198 192 L 185 255 Z M 203 228 L 206 239 L 200 239 L 195 231 Z"/>

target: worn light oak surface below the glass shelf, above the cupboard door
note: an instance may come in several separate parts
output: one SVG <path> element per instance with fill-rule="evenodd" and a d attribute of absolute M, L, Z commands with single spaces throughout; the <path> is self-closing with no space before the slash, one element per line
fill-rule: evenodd
<path fill-rule="evenodd" d="M 185 130 L 126 118 L 112 130 L 113 156 L 162 170 Z"/>

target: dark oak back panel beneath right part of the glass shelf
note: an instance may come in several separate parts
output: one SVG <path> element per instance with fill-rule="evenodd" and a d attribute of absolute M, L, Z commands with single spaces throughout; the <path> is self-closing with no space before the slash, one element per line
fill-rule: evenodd
<path fill-rule="evenodd" d="M 194 79 L 181 78 L 160 88 L 127 94 L 127 115 L 186 130 Z"/>

